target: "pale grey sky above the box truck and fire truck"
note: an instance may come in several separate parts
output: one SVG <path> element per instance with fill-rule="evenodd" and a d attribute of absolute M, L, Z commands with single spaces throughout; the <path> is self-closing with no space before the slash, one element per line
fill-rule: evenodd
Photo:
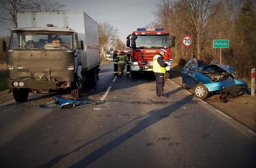
<path fill-rule="evenodd" d="M 54 1 L 54 0 L 52 0 Z M 67 5 L 69 12 L 84 11 L 96 22 L 108 22 L 118 28 L 119 37 L 126 42 L 127 35 L 136 28 L 145 27 L 155 20 L 152 11 L 161 0 L 55 0 Z M 0 27 L 0 36 L 8 31 Z"/>

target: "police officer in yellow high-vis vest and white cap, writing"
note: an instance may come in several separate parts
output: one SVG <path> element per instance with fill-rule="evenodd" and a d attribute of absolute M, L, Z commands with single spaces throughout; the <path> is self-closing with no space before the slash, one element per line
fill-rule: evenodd
<path fill-rule="evenodd" d="M 165 63 L 163 57 L 167 51 L 161 49 L 157 55 L 153 57 L 153 72 L 155 73 L 157 96 L 160 98 L 167 98 L 163 95 L 163 86 L 165 86 L 165 67 L 170 66 L 170 63 Z"/>

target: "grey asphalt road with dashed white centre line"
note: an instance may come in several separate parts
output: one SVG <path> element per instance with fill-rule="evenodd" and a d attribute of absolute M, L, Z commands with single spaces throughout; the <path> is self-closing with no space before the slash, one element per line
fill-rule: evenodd
<path fill-rule="evenodd" d="M 253 168 L 256 134 L 208 103 L 153 75 L 115 78 L 101 67 L 84 96 L 95 106 L 42 109 L 53 95 L 0 106 L 1 167 Z"/>

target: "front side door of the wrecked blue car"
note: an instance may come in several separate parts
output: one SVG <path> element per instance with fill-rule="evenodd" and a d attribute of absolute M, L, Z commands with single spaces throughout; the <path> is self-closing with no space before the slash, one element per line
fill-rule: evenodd
<path fill-rule="evenodd" d="M 197 60 L 196 59 L 190 59 L 190 66 L 189 70 L 187 72 L 187 86 L 190 88 L 194 88 L 195 86 L 195 73 L 197 73 Z"/>

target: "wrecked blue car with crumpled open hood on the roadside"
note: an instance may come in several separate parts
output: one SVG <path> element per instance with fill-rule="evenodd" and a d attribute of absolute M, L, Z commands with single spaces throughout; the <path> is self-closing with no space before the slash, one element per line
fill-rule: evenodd
<path fill-rule="evenodd" d="M 198 65 L 197 59 L 190 59 L 182 69 L 183 89 L 193 89 L 197 98 L 205 99 L 211 94 L 224 93 L 227 88 L 236 88 L 235 95 L 248 91 L 248 84 L 236 78 L 234 69 L 228 65 Z M 231 92 L 231 91 L 230 91 Z"/>

